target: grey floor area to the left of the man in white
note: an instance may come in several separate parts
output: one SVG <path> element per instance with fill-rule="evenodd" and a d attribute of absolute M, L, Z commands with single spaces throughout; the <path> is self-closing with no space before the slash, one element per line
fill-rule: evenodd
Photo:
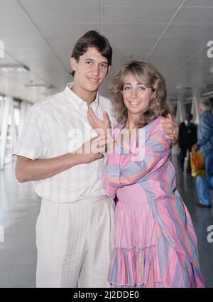
<path fill-rule="evenodd" d="M 40 198 L 33 183 L 18 183 L 13 165 L 0 171 L 0 287 L 35 287 L 35 220 Z"/>

